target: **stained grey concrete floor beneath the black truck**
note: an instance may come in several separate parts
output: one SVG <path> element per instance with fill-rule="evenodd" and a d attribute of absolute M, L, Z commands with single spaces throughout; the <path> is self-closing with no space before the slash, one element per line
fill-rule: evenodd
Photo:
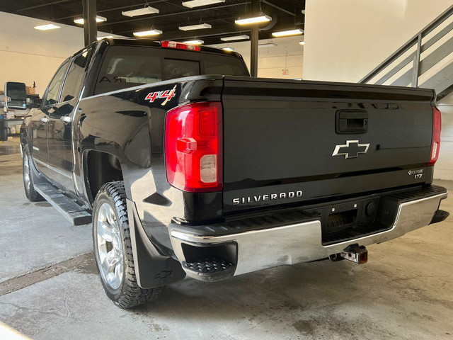
<path fill-rule="evenodd" d="M 217 283 L 186 278 L 149 305 L 120 310 L 101 288 L 90 226 L 72 227 L 48 203 L 29 203 L 20 154 L 7 143 L 0 339 L 453 340 L 452 218 L 369 246 L 363 266 L 321 261 Z M 436 183 L 453 192 L 452 182 Z M 452 196 L 442 208 L 453 212 Z"/>

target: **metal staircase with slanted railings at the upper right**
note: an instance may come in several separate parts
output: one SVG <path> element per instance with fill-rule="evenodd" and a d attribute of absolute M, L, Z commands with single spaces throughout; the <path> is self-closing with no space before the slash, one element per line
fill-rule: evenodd
<path fill-rule="evenodd" d="M 429 6 L 429 5 L 428 5 Z M 435 89 L 437 101 L 453 92 L 453 6 L 360 81 Z"/>

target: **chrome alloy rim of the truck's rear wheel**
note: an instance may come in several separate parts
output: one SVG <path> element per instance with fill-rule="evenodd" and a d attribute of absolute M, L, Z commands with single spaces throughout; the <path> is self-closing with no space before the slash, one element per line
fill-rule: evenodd
<path fill-rule="evenodd" d="M 103 281 L 113 289 L 120 288 L 124 270 L 120 224 L 108 203 L 99 208 L 96 234 L 98 264 Z"/>

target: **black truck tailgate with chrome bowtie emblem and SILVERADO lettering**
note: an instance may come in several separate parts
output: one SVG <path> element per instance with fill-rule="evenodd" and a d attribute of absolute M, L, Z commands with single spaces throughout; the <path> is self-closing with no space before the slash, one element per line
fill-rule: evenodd
<path fill-rule="evenodd" d="M 426 89 L 225 77 L 224 211 L 425 183 L 433 98 Z"/>

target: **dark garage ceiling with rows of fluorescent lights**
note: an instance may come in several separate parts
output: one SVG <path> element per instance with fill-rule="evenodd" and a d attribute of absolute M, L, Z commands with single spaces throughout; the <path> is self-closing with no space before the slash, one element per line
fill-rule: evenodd
<path fill-rule="evenodd" d="M 249 26 L 239 26 L 234 23 L 240 16 L 251 16 L 251 0 L 226 0 L 221 4 L 187 8 L 183 0 L 97 0 L 98 16 L 107 18 L 106 22 L 98 23 L 98 30 L 133 37 L 132 33 L 149 30 L 151 27 L 163 31 L 159 40 L 187 40 L 200 38 L 205 45 L 222 42 L 220 38 L 229 35 L 249 33 Z M 186 0 L 185 0 L 186 1 Z M 122 11 L 152 6 L 159 13 L 133 18 L 123 16 Z M 271 16 L 273 20 L 260 26 L 260 39 L 272 38 L 272 33 L 278 30 L 304 28 L 305 0 L 262 0 L 261 11 Z M 79 26 L 74 18 L 82 16 L 81 0 L 23 0 L 0 1 L 0 11 L 39 18 L 45 21 Z M 183 31 L 178 26 L 208 23 L 209 29 Z"/>

